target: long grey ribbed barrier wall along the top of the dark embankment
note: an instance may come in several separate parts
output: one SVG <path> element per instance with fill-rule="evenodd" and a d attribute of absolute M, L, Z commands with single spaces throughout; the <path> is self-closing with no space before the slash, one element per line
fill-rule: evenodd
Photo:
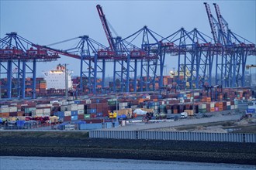
<path fill-rule="evenodd" d="M 256 134 L 226 134 L 176 131 L 89 131 L 89 138 L 229 141 L 256 143 Z"/>

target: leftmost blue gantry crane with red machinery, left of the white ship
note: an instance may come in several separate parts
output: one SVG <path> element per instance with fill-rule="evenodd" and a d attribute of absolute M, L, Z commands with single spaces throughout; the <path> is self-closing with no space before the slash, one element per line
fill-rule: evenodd
<path fill-rule="evenodd" d="M 36 98 L 36 63 L 53 61 L 60 58 L 57 53 L 37 47 L 33 49 L 33 42 L 19 36 L 16 32 L 7 33 L 0 41 L 0 74 L 7 77 L 7 85 L 1 89 L 7 90 L 7 97 L 12 98 L 12 66 L 17 68 L 18 94 L 16 97 L 26 97 L 25 89 L 32 89 L 32 97 Z M 30 46 L 29 48 L 27 48 Z M 31 66 L 32 65 L 32 66 Z M 26 86 L 26 77 L 32 74 L 33 83 Z M 1 76 L 2 77 L 2 76 Z"/>

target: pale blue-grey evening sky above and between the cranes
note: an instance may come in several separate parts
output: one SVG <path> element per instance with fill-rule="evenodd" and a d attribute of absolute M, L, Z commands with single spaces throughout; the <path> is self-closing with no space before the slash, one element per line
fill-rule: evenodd
<path fill-rule="evenodd" d="M 169 36 L 181 27 L 194 28 L 211 36 L 206 9 L 213 15 L 213 2 L 220 6 L 223 18 L 238 35 L 256 42 L 256 1 L 0 1 L 0 37 L 17 32 L 31 42 L 47 45 L 77 36 L 88 35 L 108 46 L 96 9 L 102 5 L 106 18 L 118 36 L 130 36 L 143 26 Z M 216 15 L 215 15 L 216 16 Z M 60 49 L 68 47 L 58 46 Z M 248 59 L 256 63 L 255 56 Z M 54 63 L 38 63 L 37 73 L 50 70 L 57 63 L 70 63 L 69 69 L 79 74 L 79 60 L 62 56 Z M 177 68 L 177 57 L 167 59 L 167 70 Z M 112 75 L 112 72 L 108 73 Z"/>

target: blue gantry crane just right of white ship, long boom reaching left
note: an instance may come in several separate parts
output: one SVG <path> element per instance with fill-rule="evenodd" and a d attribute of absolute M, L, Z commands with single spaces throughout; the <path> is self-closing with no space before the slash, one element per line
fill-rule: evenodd
<path fill-rule="evenodd" d="M 106 46 L 91 39 L 89 36 L 79 36 L 67 39 L 61 42 L 55 42 L 53 45 L 64 42 L 77 41 L 71 49 L 54 49 L 49 46 L 39 46 L 59 55 L 69 56 L 74 59 L 80 59 L 80 83 L 79 92 L 96 93 L 97 87 L 104 89 L 106 77 L 106 61 L 112 61 L 113 55 L 110 51 L 106 52 Z M 86 83 L 85 83 L 86 81 Z"/>

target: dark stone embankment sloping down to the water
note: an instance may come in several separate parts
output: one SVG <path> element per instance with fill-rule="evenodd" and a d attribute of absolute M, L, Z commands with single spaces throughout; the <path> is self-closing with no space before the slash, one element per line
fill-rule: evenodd
<path fill-rule="evenodd" d="M 8 134 L 6 134 L 8 133 Z M 256 165 L 256 144 L 88 138 L 85 132 L 5 132 L 0 156 L 130 158 Z"/>

